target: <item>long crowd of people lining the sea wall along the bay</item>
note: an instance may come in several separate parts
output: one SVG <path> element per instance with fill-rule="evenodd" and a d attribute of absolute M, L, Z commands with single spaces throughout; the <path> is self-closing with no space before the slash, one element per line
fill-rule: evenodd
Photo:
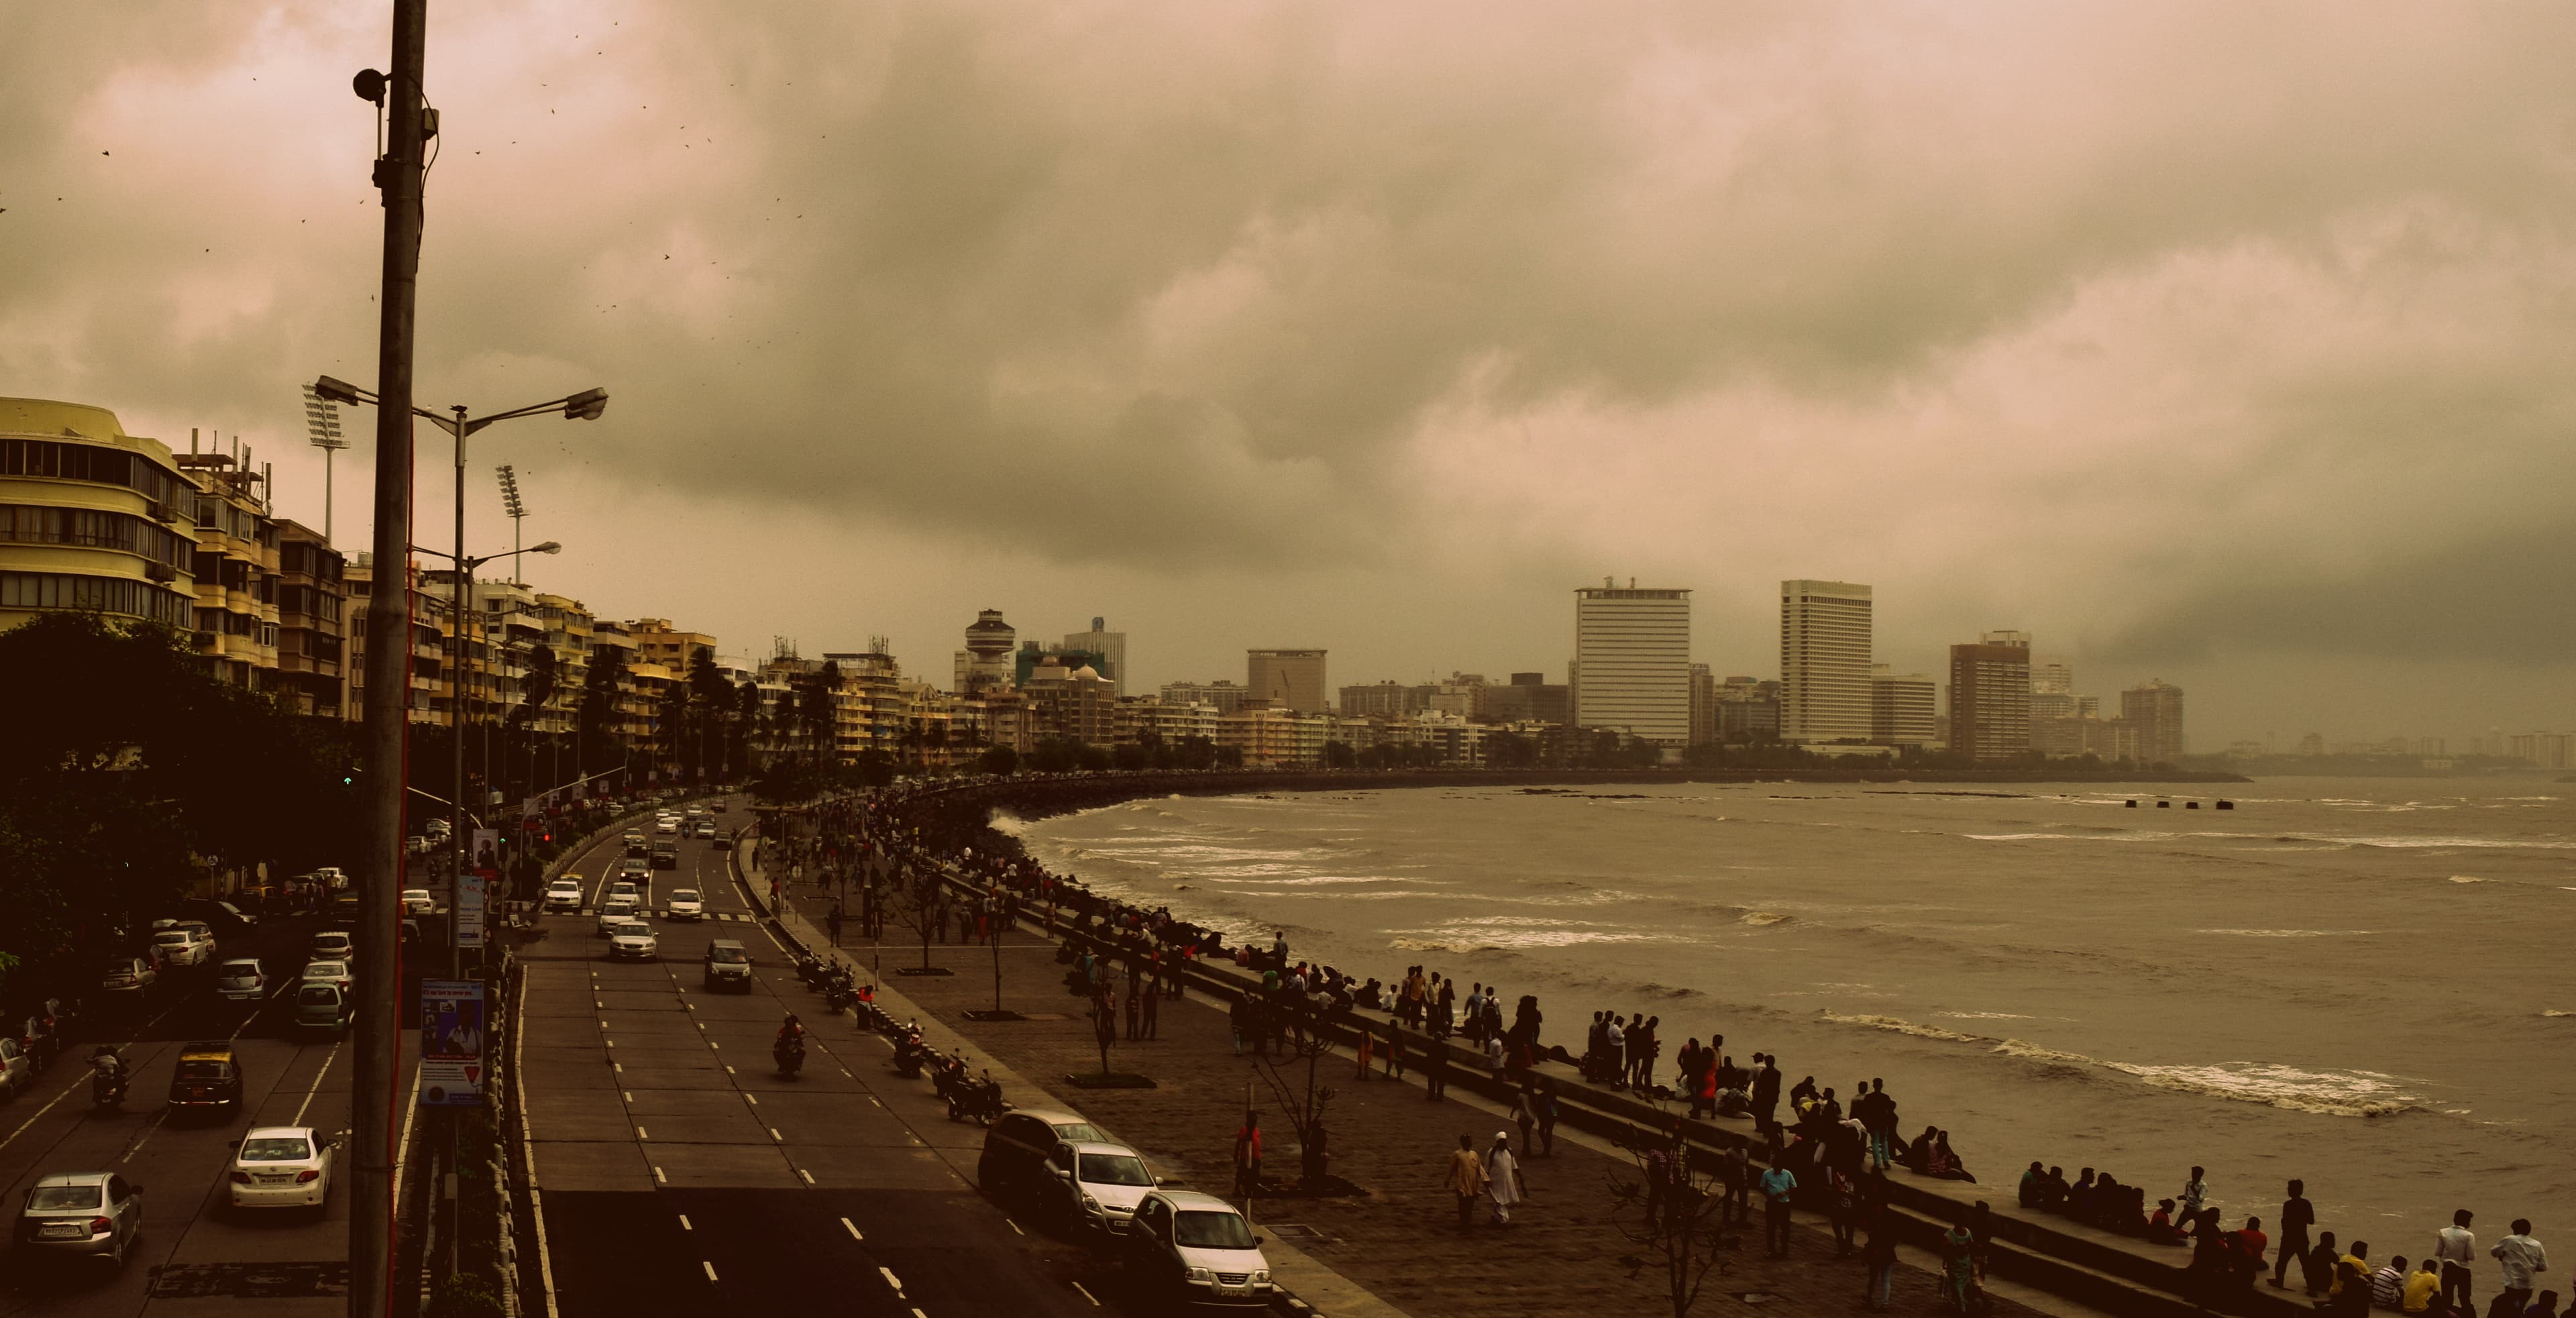
<path fill-rule="evenodd" d="M 1870 1308 L 1888 1305 L 1896 1259 L 1888 1171 L 1901 1166 L 1927 1179 L 1976 1182 L 1953 1151 L 1947 1130 L 1924 1125 L 1914 1138 L 1901 1135 L 1896 1097 L 1883 1079 L 1857 1081 L 1847 1097 L 1834 1086 L 1819 1086 L 1814 1076 L 1785 1084 L 1775 1055 L 1752 1053 L 1752 1061 L 1739 1066 L 1726 1053 L 1726 1037 L 1710 1032 L 1705 1043 L 1687 1037 L 1674 1050 L 1667 1081 L 1656 1071 L 1664 1061 L 1662 1017 L 1592 1012 L 1582 1050 L 1569 1053 L 1540 1040 L 1543 1014 L 1530 994 L 1515 999 L 1502 986 L 1481 981 L 1461 994 L 1453 976 L 1427 965 L 1406 965 L 1391 983 L 1350 976 L 1334 965 L 1293 958 L 1285 932 L 1273 932 L 1267 947 L 1229 945 L 1218 929 L 1177 919 L 1167 906 L 1115 901 L 1025 855 L 997 852 L 979 819 L 963 821 L 902 806 L 899 793 L 842 803 L 842 813 L 804 847 L 804 855 L 817 855 L 827 868 L 850 865 L 860 873 L 863 919 L 871 922 L 884 919 L 878 898 L 884 883 L 922 875 L 956 878 L 974 893 L 961 898 L 966 911 L 961 940 L 994 937 L 994 929 L 1023 914 L 1038 919 L 1064 940 L 1059 960 L 1069 965 L 1066 983 L 1092 999 L 1097 1019 L 1115 1019 L 1118 1004 L 1126 1004 L 1131 1040 L 1154 1037 L 1159 1001 L 1180 996 L 1188 963 L 1226 960 L 1260 978 L 1255 991 L 1229 1007 L 1236 1055 L 1267 1058 L 1309 1040 L 1345 1037 L 1355 1040 L 1355 1079 L 1417 1073 L 1427 1099 L 1440 1102 L 1450 1071 L 1463 1066 L 1453 1040 L 1463 1043 L 1510 1097 L 1520 1143 L 1512 1146 L 1510 1133 L 1497 1133 L 1494 1146 L 1479 1153 L 1471 1138 L 1461 1138 L 1445 1171 L 1445 1184 L 1461 1197 L 1461 1225 L 1473 1223 L 1479 1202 L 1497 1225 L 1510 1223 L 1520 1158 L 1546 1158 L 1556 1151 L 1558 1094 L 1551 1076 L 1538 1071 L 1543 1058 L 1574 1066 L 1587 1084 L 1602 1089 L 1687 1102 L 1687 1112 L 1664 1135 L 1669 1143 L 1649 1156 L 1649 1197 L 1659 1184 L 1656 1158 L 1672 1184 L 1690 1184 L 1692 1148 L 1685 1122 L 1749 1117 L 1762 1143 L 1759 1171 L 1754 1156 L 1734 1143 L 1716 1158 L 1716 1187 L 1728 1220 L 1749 1223 L 1752 1200 L 1759 1197 L 1765 1246 L 1785 1254 L 1793 1205 L 1821 1210 L 1834 1225 L 1837 1256 L 1862 1256 L 1868 1272 L 1862 1303 Z M 1504 1001 L 1512 1001 L 1510 1019 Z M 1257 1161 L 1257 1133 L 1252 1148 Z M 2316 1212 L 2300 1182 L 2290 1182 L 2290 1197 L 2275 1218 L 2277 1251 L 2262 1218 L 2246 1218 L 2239 1228 L 2223 1225 L 2221 1210 L 2208 1202 L 2205 1171 L 2197 1166 L 2182 1189 L 2154 1200 L 2154 1207 L 2143 1187 L 2123 1184 L 2110 1171 L 2081 1169 L 2069 1182 L 2061 1166 L 2040 1161 L 2022 1174 L 2017 1194 L 2025 1210 L 2148 1243 L 2187 1246 L 2187 1290 L 2208 1308 L 2231 1308 L 2231 1292 L 2249 1290 L 2269 1256 L 2275 1287 L 2287 1290 L 2287 1272 L 2295 1264 L 2303 1292 L 2329 1313 L 2383 1308 L 2432 1318 L 2558 1318 L 2558 1292 L 2535 1290 L 2548 1264 L 2530 1236 L 2530 1223 L 2522 1220 L 2488 1251 L 2504 1267 L 2504 1285 L 2481 1313 L 2470 1305 L 2476 1241 L 2465 1210 L 2442 1233 L 2434 1254 L 2409 1272 L 2403 1256 L 2372 1264 L 2362 1241 L 2336 1246 L 2334 1233 L 2316 1233 L 2311 1241 Z M 1981 1305 L 1991 1236 L 1984 1230 L 1986 1220 L 1989 1210 L 1978 1202 L 1971 1220 L 1945 1238 L 1942 1297 L 1960 1313 Z"/>

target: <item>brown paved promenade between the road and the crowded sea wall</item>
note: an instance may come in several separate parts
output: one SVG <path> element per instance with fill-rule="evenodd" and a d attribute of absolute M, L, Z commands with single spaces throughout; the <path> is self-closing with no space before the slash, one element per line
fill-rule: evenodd
<path fill-rule="evenodd" d="M 827 901 L 811 891 L 793 896 L 819 924 Z M 845 937 L 842 952 L 860 968 L 868 965 L 868 945 L 850 947 Z M 894 976 L 896 965 L 920 963 L 920 945 L 886 945 L 884 965 L 891 991 L 925 1012 L 935 1045 L 966 1040 L 1007 1068 L 1051 1084 L 1079 1112 L 1136 1143 L 1159 1171 L 1203 1189 L 1231 1182 L 1231 1135 L 1249 1086 L 1270 1133 L 1273 1176 L 1293 1176 L 1296 1138 L 1285 1112 L 1255 1076 L 1252 1061 L 1231 1055 L 1224 1009 L 1203 996 L 1164 1004 L 1159 1040 L 1113 1048 L 1110 1063 L 1118 1071 L 1149 1073 L 1157 1089 L 1079 1091 L 1064 1086 L 1064 1076 L 1097 1071 L 1100 1053 L 1082 1019 L 1082 999 L 1061 988 L 1064 968 L 1054 960 L 1054 945 L 1015 934 L 999 955 L 1002 1007 L 1036 1019 L 987 1025 L 963 1017 L 969 1009 L 994 1007 L 992 947 L 933 945 L 933 960 L 956 976 Z M 1638 1305 L 1646 1313 L 1669 1310 L 1659 1272 L 1631 1277 L 1620 1267 L 1623 1256 L 1636 1254 L 1610 1225 L 1610 1176 L 1636 1179 L 1636 1166 L 1623 1153 L 1558 1130 L 1556 1156 L 1525 1164 L 1530 1202 L 1515 1210 L 1515 1225 L 1489 1228 L 1479 1220 L 1461 1230 L 1455 1200 L 1440 1187 L 1448 1153 L 1458 1135 L 1471 1135 L 1484 1151 L 1510 1122 L 1466 1094 L 1427 1102 L 1417 1084 L 1355 1081 L 1352 1061 L 1342 1053 L 1327 1055 L 1319 1076 L 1334 1086 L 1327 1109 L 1332 1169 L 1365 1194 L 1257 1202 L 1255 1218 L 1273 1233 L 1288 1225 L 1316 1230 L 1321 1241 L 1303 1241 L 1316 1259 L 1425 1318 L 1566 1315 Z M 1860 1290 L 1860 1261 L 1837 1261 L 1832 1236 L 1801 1215 L 1790 1259 L 1765 1259 L 1754 1228 L 1726 1256 L 1726 1272 L 1708 1277 L 1695 1313 L 1731 1313 L 1739 1303 L 1767 1313 L 1850 1313 Z M 1996 1295 L 1996 1313 L 2032 1313 L 2012 1292 L 2017 1287 Z M 2020 1295 L 2048 1313 L 2084 1313 L 2053 1297 Z M 1929 1272 L 1899 1267 L 1896 1313 L 1942 1313 Z"/>

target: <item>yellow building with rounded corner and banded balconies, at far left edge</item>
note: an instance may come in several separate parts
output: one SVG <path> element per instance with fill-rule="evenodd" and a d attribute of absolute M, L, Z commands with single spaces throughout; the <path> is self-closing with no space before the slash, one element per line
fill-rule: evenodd
<path fill-rule="evenodd" d="M 39 613 L 196 620 L 196 484 L 106 407 L 0 399 L 0 631 Z"/>

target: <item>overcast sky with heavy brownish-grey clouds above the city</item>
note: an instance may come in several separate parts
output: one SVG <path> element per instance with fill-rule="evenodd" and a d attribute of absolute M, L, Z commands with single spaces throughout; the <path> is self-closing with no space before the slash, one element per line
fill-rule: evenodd
<path fill-rule="evenodd" d="M 0 0 L 0 394 L 374 378 L 386 5 Z M 2576 726 L 2576 10 L 461 3 L 420 402 L 531 571 L 732 651 L 1108 615 L 1139 680 L 1546 669 L 1783 577 L 2192 736 Z M 368 420 L 350 417 L 366 435 Z M 229 443 L 229 440 L 227 440 Z M 337 533 L 366 535 L 366 445 Z M 446 543 L 448 456 L 420 525 Z"/>

